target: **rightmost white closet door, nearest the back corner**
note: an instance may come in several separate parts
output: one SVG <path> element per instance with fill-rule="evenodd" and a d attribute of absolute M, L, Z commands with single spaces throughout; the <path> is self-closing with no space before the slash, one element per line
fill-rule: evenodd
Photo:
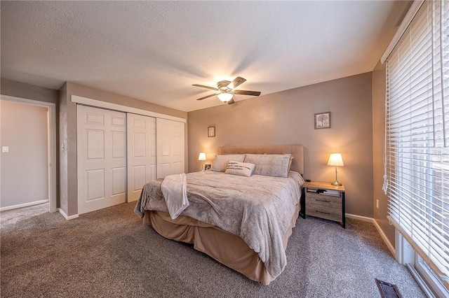
<path fill-rule="evenodd" d="M 184 123 L 156 119 L 157 178 L 184 173 Z"/>

